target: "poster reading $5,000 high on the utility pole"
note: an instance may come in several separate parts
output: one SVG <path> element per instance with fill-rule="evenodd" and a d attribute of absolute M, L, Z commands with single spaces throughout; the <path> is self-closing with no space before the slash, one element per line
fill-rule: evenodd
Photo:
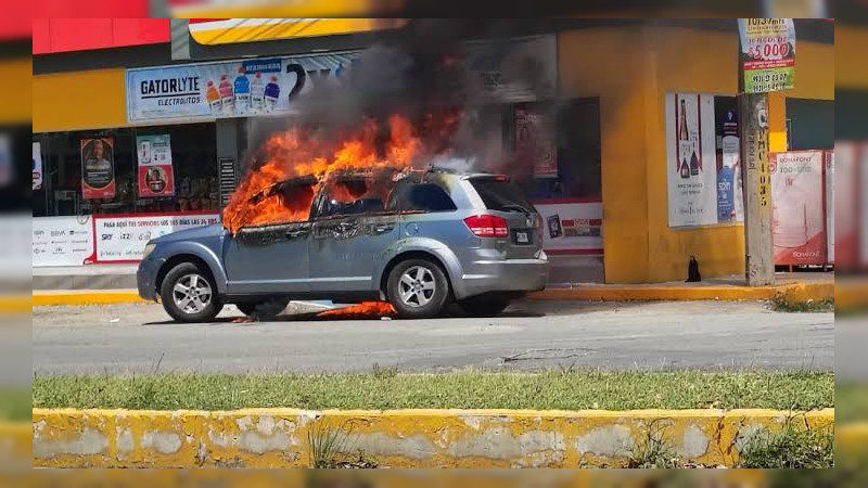
<path fill-rule="evenodd" d="M 794 87 L 795 26 L 792 18 L 740 18 L 745 93 Z"/>

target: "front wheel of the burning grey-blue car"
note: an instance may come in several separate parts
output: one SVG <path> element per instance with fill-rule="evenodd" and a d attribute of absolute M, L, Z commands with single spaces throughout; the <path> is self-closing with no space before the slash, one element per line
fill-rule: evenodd
<path fill-rule="evenodd" d="M 224 308 L 217 286 L 207 269 L 195 262 L 181 262 L 159 286 L 163 308 L 178 322 L 209 322 Z"/>

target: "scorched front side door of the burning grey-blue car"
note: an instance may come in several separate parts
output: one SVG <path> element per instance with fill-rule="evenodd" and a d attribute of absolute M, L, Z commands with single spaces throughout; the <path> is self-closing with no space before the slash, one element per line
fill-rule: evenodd
<path fill-rule="evenodd" d="M 304 215 L 301 221 L 246 227 L 226 239 L 224 264 L 229 294 L 310 291 L 308 248 L 312 193 L 312 185 L 295 187 L 281 196 L 299 207 Z"/>

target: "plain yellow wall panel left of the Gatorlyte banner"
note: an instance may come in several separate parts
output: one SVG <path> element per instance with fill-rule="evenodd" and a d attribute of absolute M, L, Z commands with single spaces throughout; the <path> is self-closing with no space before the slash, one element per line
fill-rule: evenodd
<path fill-rule="evenodd" d="M 33 77 L 34 133 L 126 127 L 123 68 Z"/>

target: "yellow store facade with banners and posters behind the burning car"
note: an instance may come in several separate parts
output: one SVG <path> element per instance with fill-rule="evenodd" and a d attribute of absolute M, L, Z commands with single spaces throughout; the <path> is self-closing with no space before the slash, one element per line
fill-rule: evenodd
<path fill-rule="evenodd" d="M 769 98 L 773 152 L 833 143 L 810 129 L 832 125 L 826 117 L 834 103 L 833 40 L 799 26 L 795 88 Z M 294 97 L 317 82 L 342 82 L 370 43 L 322 42 L 316 53 L 279 40 L 215 48 L 202 59 L 164 53 L 133 66 L 35 75 L 34 158 L 42 179 L 34 187 L 34 266 L 135 261 L 139 241 L 216 221 L 244 171 L 255 120 L 290 116 Z M 468 43 L 472 69 L 489 91 L 480 116 L 496 136 L 496 151 L 529 147 L 532 175 L 523 184 L 547 221 L 551 283 L 682 280 L 690 256 L 704 277 L 743 272 L 740 197 L 732 188 L 735 23 L 565 22 L 508 39 L 506 50 L 487 51 L 486 43 Z M 544 88 L 500 82 L 510 56 L 529 61 Z M 671 160 L 682 120 L 703 141 L 702 163 L 687 174 Z M 103 149 L 91 149 L 94 141 Z M 88 169 L 88 162 L 102 159 L 95 151 L 111 155 L 113 179 L 97 164 Z M 171 164 L 155 160 L 157 171 L 150 171 L 144 152 L 151 159 L 168 152 Z M 169 174 L 171 181 L 164 181 Z M 681 178 L 701 179 L 710 193 L 697 202 L 678 196 Z M 88 179 L 95 185 L 89 190 Z M 111 197 L 99 194 L 106 179 L 114 182 Z M 730 188 L 720 191 L 727 181 Z M 161 188 L 173 192 L 159 195 Z M 50 239 L 52 232 L 81 235 L 88 226 L 90 241 L 64 247 Z"/>

